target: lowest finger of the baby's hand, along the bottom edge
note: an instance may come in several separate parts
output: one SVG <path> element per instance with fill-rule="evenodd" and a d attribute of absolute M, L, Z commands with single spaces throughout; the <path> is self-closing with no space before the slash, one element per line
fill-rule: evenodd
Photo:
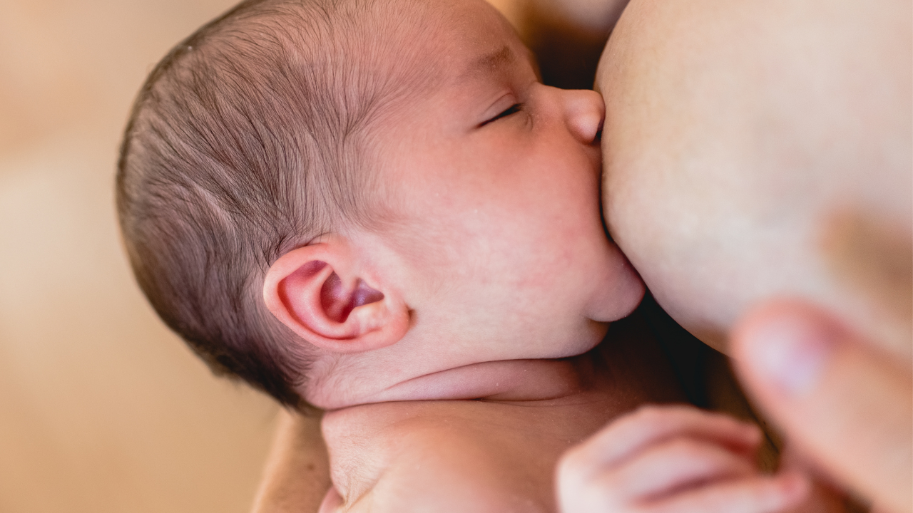
<path fill-rule="evenodd" d="M 799 505 L 808 489 L 807 480 L 799 474 L 758 476 L 696 488 L 646 502 L 636 510 L 643 513 L 774 513 Z"/>

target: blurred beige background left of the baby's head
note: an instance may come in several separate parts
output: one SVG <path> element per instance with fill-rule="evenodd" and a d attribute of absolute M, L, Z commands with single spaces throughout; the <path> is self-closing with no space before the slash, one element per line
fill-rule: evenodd
<path fill-rule="evenodd" d="M 146 73 L 233 3 L 0 0 L 0 513 L 250 508 L 277 407 L 154 317 L 111 184 Z"/>

